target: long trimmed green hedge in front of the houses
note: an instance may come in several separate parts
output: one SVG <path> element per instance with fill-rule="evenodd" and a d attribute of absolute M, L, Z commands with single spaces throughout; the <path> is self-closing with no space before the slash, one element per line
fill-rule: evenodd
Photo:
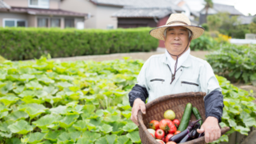
<path fill-rule="evenodd" d="M 150 27 L 117 30 L 0 28 L 0 55 L 10 60 L 156 50 Z"/>

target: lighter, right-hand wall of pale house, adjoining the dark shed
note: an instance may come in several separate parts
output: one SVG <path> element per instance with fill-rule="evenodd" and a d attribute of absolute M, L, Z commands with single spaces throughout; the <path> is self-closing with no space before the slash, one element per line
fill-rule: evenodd
<path fill-rule="evenodd" d="M 116 6 L 97 6 L 96 28 L 107 29 L 107 26 L 113 26 L 114 29 L 117 29 L 118 18 L 111 17 L 111 15 L 121 9 L 122 7 Z"/>

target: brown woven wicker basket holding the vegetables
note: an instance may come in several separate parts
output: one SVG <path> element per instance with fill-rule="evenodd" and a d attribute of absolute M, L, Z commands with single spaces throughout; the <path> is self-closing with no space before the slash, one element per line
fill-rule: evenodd
<path fill-rule="evenodd" d="M 206 111 L 205 105 L 203 101 L 203 97 L 206 93 L 202 92 L 190 92 L 190 93 L 181 93 L 181 94 L 170 94 L 163 96 L 161 98 L 157 98 L 152 102 L 146 104 L 146 114 L 142 114 L 142 111 L 138 112 L 138 128 L 139 135 L 142 140 L 142 144 L 159 144 L 148 132 L 149 123 L 151 120 L 162 120 L 163 114 L 166 110 L 174 110 L 176 114 L 176 118 L 179 120 L 182 119 L 182 114 L 185 110 L 186 103 L 190 102 L 192 106 L 198 108 L 203 122 L 206 120 Z M 191 114 L 190 120 L 194 121 L 196 118 L 194 114 Z M 222 134 L 225 134 L 230 127 L 222 128 Z M 204 144 L 205 138 L 196 138 L 189 142 L 184 142 L 184 144 Z"/>

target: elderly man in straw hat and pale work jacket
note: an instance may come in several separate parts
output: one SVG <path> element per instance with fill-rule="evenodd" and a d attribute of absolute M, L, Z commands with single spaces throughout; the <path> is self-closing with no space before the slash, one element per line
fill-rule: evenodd
<path fill-rule="evenodd" d="M 210 64 L 190 55 L 190 42 L 204 29 L 191 26 L 184 14 L 171 14 L 165 26 L 150 30 L 151 36 L 165 41 L 166 53 L 151 56 L 138 74 L 138 83 L 129 93 L 131 120 L 138 125 L 138 110 L 146 113 L 145 103 L 168 94 L 206 92 L 206 121 L 198 133 L 205 132 L 205 141 L 221 136 L 223 95 Z"/>

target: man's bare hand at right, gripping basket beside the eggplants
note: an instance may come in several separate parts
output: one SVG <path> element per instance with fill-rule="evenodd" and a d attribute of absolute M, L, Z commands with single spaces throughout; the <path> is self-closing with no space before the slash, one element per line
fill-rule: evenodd
<path fill-rule="evenodd" d="M 203 122 L 200 130 L 197 130 L 199 134 L 205 132 L 206 143 L 214 142 L 221 137 L 221 129 L 218 126 L 218 119 L 215 117 L 208 117 Z"/>

